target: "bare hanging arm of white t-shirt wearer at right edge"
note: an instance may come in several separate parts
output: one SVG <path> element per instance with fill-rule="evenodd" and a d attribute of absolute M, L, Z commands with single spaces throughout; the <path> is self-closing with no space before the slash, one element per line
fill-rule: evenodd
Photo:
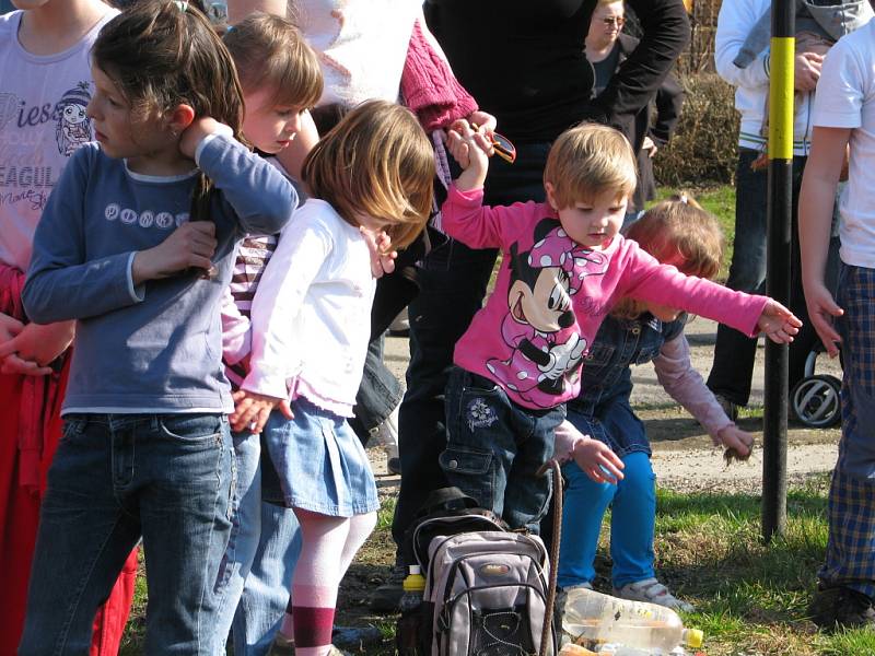
<path fill-rule="evenodd" d="M 850 128 L 814 129 L 812 152 L 805 164 L 800 192 L 802 285 L 812 325 L 830 358 L 838 354 L 839 349 L 836 344 L 841 341 L 832 320 L 833 317 L 844 314 L 844 311 L 836 304 L 832 294 L 827 290 L 824 272 L 827 266 L 836 188 L 850 137 Z"/>

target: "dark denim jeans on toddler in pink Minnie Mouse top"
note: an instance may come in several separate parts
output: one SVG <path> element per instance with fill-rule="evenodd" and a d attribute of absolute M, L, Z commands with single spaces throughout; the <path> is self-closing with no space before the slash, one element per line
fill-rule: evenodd
<path fill-rule="evenodd" d="M 511 528 L 540 529 L 550 501 L 549 476 L 538 469 L 553 453 L 564 407 L 517 406 L 491 380 L 455 367 L 446 385 L 446 480 L 502 517 Z"/>

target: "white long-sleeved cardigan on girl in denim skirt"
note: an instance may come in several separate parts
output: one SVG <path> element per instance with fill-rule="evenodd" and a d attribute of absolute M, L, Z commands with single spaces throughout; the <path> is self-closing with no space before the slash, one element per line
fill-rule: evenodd
<path fill-rule="evenodd" d="M 280 233 L 252 307 L 243 389 L 306 397 L 352 417 L 371 335 L 375 281 L 360 230 L 310 199 Z"/>

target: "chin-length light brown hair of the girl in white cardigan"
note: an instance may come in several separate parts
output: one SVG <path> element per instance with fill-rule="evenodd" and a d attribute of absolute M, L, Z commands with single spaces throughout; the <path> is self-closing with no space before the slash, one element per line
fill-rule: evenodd
<path fill-rule="evenodd" d="M 359 225 L 359 214 L 385 223 L 393 248 L 429 220 L 434 153 L 416 116 L 395 103 L 352 109 L 310 151 L 301 175 L 348 223 Z"/>

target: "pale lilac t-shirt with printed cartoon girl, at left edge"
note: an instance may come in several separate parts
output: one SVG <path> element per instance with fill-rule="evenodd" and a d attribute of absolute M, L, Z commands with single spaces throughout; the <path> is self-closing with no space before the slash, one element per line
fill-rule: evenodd
<path fill-rule="evenodd" d="M 37 56 L 19 43 L 22 12 L 0 16 L 0 262 L 27 269 L 34 230 L 77 148 L 92 141 L 89 52 L 108 10 L 78 44 Z"/>

